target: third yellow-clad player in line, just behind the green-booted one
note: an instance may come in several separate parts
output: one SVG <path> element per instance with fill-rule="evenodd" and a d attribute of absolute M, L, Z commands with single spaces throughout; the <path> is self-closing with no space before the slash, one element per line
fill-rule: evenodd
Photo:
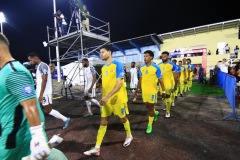
<path fill-rule="evenodd" d="M 174 91 L 177 89 L 177 68 L 174 63 L 169 61 L 168 56 L 169 52 L 162 52 L 162 62 L 158 64 L 162 72 L 162 80 L 166 92 L 166 97 L 164 99 L 166 105 L 166 118 L 170 118 L 171 105 L 175 98 Z"/>

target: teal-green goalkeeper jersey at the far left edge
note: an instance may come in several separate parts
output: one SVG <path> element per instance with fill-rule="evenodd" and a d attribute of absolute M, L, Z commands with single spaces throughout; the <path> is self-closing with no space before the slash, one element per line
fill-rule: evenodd
<path fill-rule="evenodd" d="M 29 123 L 20 103 L 32 98 L 36 98 L 36 93 L 30 72 L 18 61 L 6 63 L 0 69 L 0 149 L 16 148 L 31 140 Z"/>

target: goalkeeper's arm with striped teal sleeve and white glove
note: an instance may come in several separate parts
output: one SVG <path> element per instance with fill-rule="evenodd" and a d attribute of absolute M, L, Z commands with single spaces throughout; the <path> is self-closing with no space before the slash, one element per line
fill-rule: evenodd
<path fill-rule="evenodd" d="M 6 87 L 8 91 L 15 96 L 20 105 L 22 105 L 29 122 L 29 129 L 32 136 L 30 142 L 31 157 L 42 159 L 48 156 L 50 148 L 40 122 L 32 76 L 24 71 L 15 71 L 9 74 Z"/>

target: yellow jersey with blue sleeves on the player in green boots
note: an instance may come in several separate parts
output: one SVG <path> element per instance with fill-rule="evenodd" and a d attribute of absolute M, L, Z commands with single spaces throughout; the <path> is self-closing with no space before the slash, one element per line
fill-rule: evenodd
<path fill-rule="evenodd" d="M 150 66 L 146 64 L 141 65 L 140 77 L 142 77 L 142 94 L 156 94 L 157 82 L 159 78 L 162 78 L 162 73 L 158 65 L 152 63 Z"/>

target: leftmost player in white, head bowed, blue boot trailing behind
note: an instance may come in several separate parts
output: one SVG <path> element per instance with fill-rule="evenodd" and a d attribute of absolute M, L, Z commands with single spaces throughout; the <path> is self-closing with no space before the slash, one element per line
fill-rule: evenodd
<path fill-rule="evenodd" d="M 66 129 L 70 118 L 63 116 L 57 110 L 52 109 L 52 76 L 49 66 L 42 62 L 38 54 L 30 53 L 28 60 L 31 64 L 37 65 L 36 71 L 36 94 L 39 102 L 41 102 L 44 113 L 49 114 L 55 118 L 61 119 L 63 123 L 63 129 Z"/>

